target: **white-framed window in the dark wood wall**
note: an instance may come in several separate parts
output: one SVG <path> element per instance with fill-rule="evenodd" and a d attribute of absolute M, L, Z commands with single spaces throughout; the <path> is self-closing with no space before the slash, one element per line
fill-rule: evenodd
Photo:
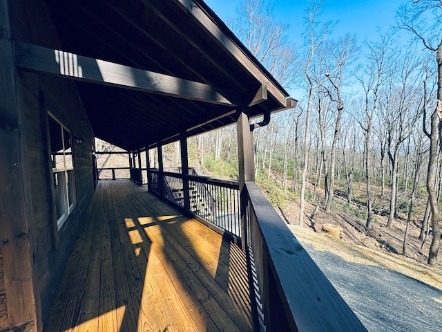
<path fill-rule="evenodd" d="M 48 113 L 48 115 L 55 210 L 57 214 L 57 227 L 60 229 L 77 203 L 73 140 L 70 131 L 55 119 L 52 114 Z"/>

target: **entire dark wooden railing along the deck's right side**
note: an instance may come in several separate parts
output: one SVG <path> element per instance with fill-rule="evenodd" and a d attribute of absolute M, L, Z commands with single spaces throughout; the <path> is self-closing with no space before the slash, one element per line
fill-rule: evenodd
<path fill-rule="evenodd" d="M 131 170 L 134 181 L 146 181 L 147 174 L 150 192 L 215 226 L 247 252 L 256 329 L 367 331 L 256 183 L 245 183 L 240 199 L 238 181 Z"/>

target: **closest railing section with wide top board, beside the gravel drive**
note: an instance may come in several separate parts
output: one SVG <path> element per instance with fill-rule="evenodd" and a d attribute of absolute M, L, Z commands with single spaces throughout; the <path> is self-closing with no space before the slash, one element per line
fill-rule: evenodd
<path fill-rule="evenodd" d="M 367 331 L 256 183 L 243 195 L 242 241 L 266 331 Z"/>

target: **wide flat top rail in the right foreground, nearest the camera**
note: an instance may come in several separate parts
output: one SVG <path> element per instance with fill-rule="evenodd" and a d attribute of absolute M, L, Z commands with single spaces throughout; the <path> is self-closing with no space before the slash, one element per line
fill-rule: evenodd
<path fill-rule="evenodd" d="M 245 185 L 290 324 L 298 331 L 367 331 L 256 183 Z"/>

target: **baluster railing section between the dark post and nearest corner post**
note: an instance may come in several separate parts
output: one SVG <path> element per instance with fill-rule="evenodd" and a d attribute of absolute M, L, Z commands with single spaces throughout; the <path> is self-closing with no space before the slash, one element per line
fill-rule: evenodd
<path fill-rule="evenodd" d="M 240 241 L 238 181 L 149 169 L 148 190 Z M 184 188 L 189 188 L 186 192 Z"/>

